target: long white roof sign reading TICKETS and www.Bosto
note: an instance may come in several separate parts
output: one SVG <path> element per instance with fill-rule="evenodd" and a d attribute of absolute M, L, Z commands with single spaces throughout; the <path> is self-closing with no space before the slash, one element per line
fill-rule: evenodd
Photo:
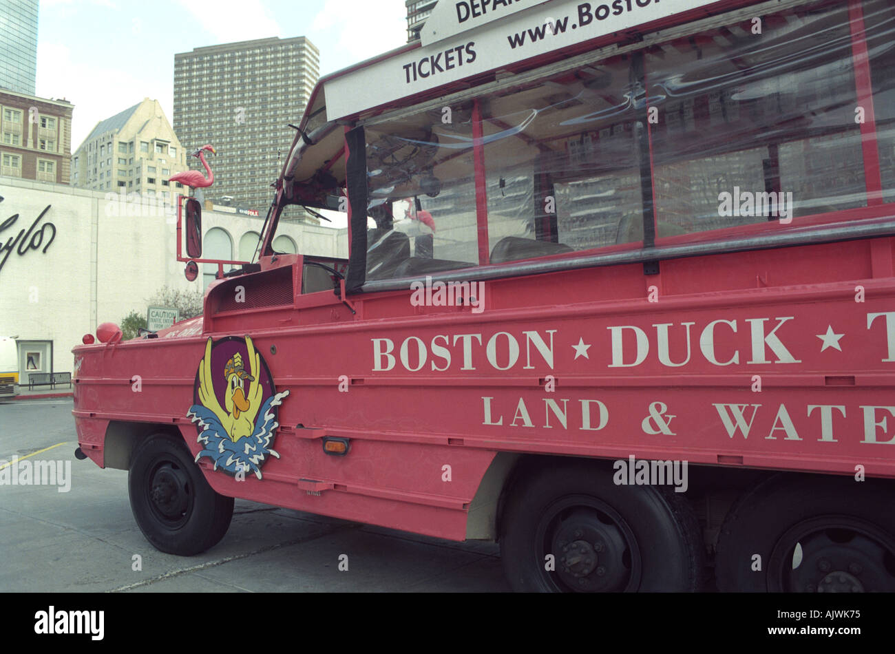
<path fill-rule="evenodd" d="M 484 2 L 475 1 L 479 6 Z M 465 2 L 470 4 L 471 0 Z M 497 10 L 494 2 L 488 2 L 492 12 L 490 21 L 477 23 L 472 30 L 327 81 L 324 92 L 328 119 L 344 118 L 552 50 L 715 4 L 718 0 L 550 0 L 541 4 L 517 0 L 506 8 L 501 4 Z M 432 15 L 441 6 L 456 12 L 456 4 L 457 0 L 441 0 Z M 487 16 L 482 13 L 479 18 Z M 454 20 L 457 21 L 456 16 Z M 437 25 L 436 29 L 439 29 Z"/>

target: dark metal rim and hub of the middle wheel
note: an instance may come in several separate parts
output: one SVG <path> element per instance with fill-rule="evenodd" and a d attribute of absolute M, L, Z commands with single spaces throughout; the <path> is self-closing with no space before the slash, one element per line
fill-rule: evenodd
<path fill-rule="evenodd" d="M 547 505 L 535 529 L 536 569 L 553 591 L 631 592 L 643 563 L 634 532 L 596 497 L 570 495 Z M 547 556 L 555 569 L 547 570 Z"/>

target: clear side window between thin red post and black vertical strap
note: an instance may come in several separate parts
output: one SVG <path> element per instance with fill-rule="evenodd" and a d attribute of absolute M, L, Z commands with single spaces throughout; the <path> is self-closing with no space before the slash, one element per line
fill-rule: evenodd
<path fill-rule="evenodd" d="M 643 238 L 630 66 L 615 57 L 482 100 L 492 262 Z"/>

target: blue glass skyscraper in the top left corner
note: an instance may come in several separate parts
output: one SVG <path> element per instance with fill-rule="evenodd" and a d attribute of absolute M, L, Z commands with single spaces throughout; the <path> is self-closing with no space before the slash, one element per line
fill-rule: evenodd
<path fill-rule="evenodd" d="M 33 96 L 38 76 L 38 0 L 0 0 L 0 89 Z"/>

